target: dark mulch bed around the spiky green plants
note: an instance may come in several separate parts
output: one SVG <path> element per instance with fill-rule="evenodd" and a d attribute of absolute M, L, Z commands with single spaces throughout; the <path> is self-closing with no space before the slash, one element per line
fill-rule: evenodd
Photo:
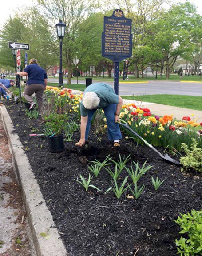
<path fill-rule="evenodd" d="M 182 173 L 179 166 L 165 162 L 147 146 L 136 147 L 133 140 L 124 139 L 120 148 L 112 148 L 106 135 L 92 131 L 86 147 L 65 142 L 64 152 L 50 153 L 45 137 L 29 136 L 42 132 L 42 120 L 29 120 L 24 112 L 18 116 L 17 104 L 9 102 L 7 109 L 69 256 L 176 255 L 174 241 L 181 235 L 174 220 L 179 212 L 202 208 L 201 174 Z M 73 140 L 79 140 L 79 132 Z M 131 195 L 129 189 L 119 200 L 112 191 L 104 194 L 111 186 L 111 176 L 105 170 L 91 180 L 102 192 L 93 188 L 86 192 L 74 180 L 79 174 L 88 177 L 90 172 L 82 157 L 103 161 L 109 154 L 114 160 L 119 154 L 130 154 L 127 166 L 132 161 L 142 165 L 146 160 L 154 166 L 139 180 L 139 186 L 145 184 L 146 188 L 138 200 L 126 197 Z M 125 176 L 123 171 L 122 181 Z M 158 191 L 151 184 L 151 176 L 165 180 Z"/>

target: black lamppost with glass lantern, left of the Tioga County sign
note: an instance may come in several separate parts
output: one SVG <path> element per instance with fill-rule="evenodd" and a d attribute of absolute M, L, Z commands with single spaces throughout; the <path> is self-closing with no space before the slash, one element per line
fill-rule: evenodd
<path fill-rule="evenodd" d="M 56 28 L 57 28 L 57 35 L 59 37 L 60 40 L 60 51 L 59 51 L 59 87 L 63 87 L 64 89 L 64 85 L 63 85 L 63 60 L 62 60 L 62 45 L 63 45 L 63 37 L 64 37 L 64 33 L 65 33 L 65 27 L 66 24 L 64 24 L 62 22 L 62 20 L 59 21 L 58 24 L 56 24 Z"/>

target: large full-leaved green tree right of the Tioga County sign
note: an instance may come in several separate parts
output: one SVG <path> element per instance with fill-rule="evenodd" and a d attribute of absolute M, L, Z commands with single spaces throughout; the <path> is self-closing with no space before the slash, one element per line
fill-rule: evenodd
<path fill-rule="evenodd" d="M 193 51 L 198 26 L 196 9 L 189 2 L 172 6 L 154 22 L 157 31 L 154 42 L 166 62 L 167 79 L 177 57 Z"/>

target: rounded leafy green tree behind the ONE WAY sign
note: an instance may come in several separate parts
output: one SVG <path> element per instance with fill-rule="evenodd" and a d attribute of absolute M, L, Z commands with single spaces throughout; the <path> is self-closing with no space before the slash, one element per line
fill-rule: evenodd
<path fill-rule="evenodd" d="M 52 51 L 54 41 L 48 26 L 48 19 L 40 16 L 36 8 L 28 8 L 26 12 L 16 14 L 4 24 L 0 34 L 0 64 L 15 67 L 8 41 L 23 42 L 30 45 L 28 59 L 36 58 L 39 64 L 48 69 L 55 62 Z M 21 51 L 21 67 L 24 67 L 24 52 Z"/>

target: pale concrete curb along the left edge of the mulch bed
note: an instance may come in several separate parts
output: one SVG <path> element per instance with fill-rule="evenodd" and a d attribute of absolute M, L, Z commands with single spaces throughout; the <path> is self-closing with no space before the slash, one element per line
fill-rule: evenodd
<path fill-rule="evenodd" d="M 67 251 L 40 192 L 23 145 L 19 136 L 13 133 L 15 129 L 5 106 L 0 106 L 0 112 L 22 190 L 36 254 L 37 256 L 67 256 Z M 47 239 L 40 235 L 45 232 L 47 232 Z"/>

